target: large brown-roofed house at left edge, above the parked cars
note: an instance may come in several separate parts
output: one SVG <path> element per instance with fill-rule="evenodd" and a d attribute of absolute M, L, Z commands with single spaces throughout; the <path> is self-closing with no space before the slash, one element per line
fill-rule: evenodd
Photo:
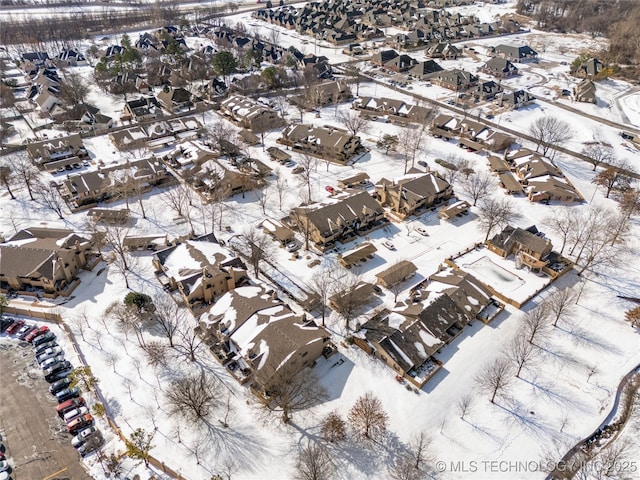
<path fill-rule="evenodd" d="M 100 259 L 91 240 L 72 230 L 27 228 L 0 243 L 0 291 L 68 296 L 78 272 Z"/>

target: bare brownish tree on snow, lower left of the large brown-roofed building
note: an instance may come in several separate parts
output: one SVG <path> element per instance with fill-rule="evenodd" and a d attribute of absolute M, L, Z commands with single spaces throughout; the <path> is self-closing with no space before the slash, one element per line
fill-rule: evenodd
<path fill-rule="evenodd" d="M 220 398 L 217 380 L 204 370 L 173 380 L 164 395 L 170 413 L 193 422 L 207 421 Z"/>

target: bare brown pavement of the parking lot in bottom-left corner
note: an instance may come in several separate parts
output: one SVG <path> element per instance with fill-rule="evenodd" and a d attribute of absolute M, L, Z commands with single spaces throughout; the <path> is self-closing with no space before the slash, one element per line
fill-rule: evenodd
<path fill-rule="evenodd" d="M 90 480 L 26 342 L 0 338 L 0 429 L 14 480 Z"/>

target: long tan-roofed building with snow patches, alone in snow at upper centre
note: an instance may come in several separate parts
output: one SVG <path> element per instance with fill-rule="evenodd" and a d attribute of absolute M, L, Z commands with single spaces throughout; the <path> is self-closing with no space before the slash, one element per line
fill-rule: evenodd
<path fill-rule="evenodd" d="M 308 124 L 289 125 L 283 130 L 278 143 L 340 164 L 348 163 L 355 155 L 365 150 L 360 143 L 360 137 L 351 135 L 346 130 Z"/>

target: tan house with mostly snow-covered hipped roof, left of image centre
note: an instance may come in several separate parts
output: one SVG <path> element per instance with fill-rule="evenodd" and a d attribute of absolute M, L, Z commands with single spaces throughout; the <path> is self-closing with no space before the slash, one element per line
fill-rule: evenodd
<path fill-rule="evenodd" d="M 153 266 L 160 281 L 177 290 L 192 311 L 201 311 L 248 281 L 242 260 L 212 233 L 156 252 Z"/>

